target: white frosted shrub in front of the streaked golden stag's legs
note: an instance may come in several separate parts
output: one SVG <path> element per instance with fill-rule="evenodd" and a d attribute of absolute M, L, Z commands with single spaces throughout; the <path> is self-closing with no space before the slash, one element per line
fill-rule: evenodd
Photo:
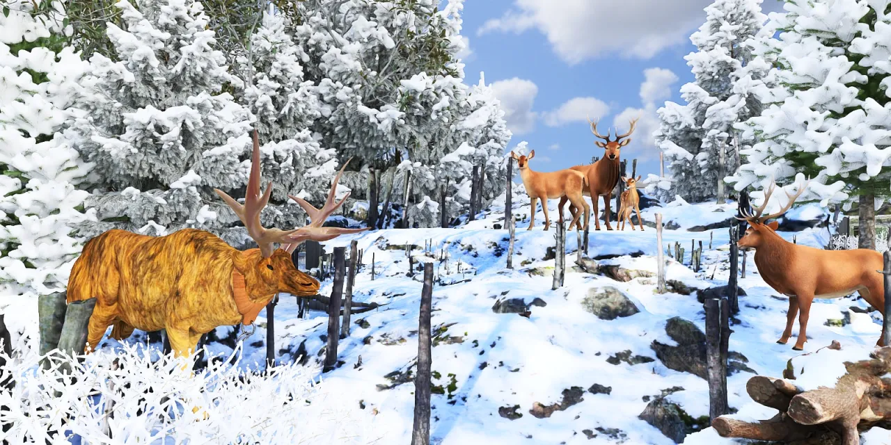
<path fill-rule="evenodd" d="M 10 443 L 57 443 L 61 434 L 95 444 L 375 441 L 370 417 L 328 397 L 312 381 L 313 369 L 290 364 L 245 374 L 238 370 L 240 347 L 232 362 L 208 360 L 193 376 L 183 370 L 190 360 L 152 362 L 142 344 L 78 356 L 79 362 L 59 356 L 49 369 L 29 351 L 13 354 L 0 369 L 0 381 L 15 380 L 11 392 L 0 392 L 0 405 L 8 407 L 0 424 L 12 424 Z M 58 370 L 62 364 L 70 374 Z M 200 409 L 193 413 L 194 407 Z"/>

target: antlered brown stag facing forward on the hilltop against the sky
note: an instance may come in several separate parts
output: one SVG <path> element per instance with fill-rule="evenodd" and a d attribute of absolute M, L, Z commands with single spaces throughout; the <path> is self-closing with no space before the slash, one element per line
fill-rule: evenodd
<path fill-rule="evenodd" d="M 628 142 L 631 142 L 631 139 L 628 138 L 632 133 L 634 133 L 634 126 L 637 125 L 637 119 L 634 119 L 630 122 L 630 128 L 628 129 L 628 133 L 625 134 L 616 134 L 616 140 L 609 140 L 609 131 L 607 135 L 604 136 L 602 134 L 597 133 L 597 122 L 592 121 L 590 118 L 588 119 L 588 123 L 591 124 L 591 132 L 605 140 L 606 142 L 595 141 L 594 143 L 600 147 L 601 149 L 605 149 L 606 152 L 603 154 L 603 158 L 597 160 L 597 162 L 587 165 L 587 166 L 574 166 L 571 167 L 572 170 L 576 170 L 578 172 L 582 172 L 585 178 L 588 180 L 588 190 L 584 190 L 584 196 L 591 197 L 591 204 L 594 206 L 594 228 L 598 231 L 601 230 L 601 219 L 598 214 L 597 201 L 600 197 L 603 197 L 603 206 L 606 207 L 606 223 L 607 230 L 611 231 L 612 226 L 609 224 L 609 201 L 612 199 L 612 190 L 616 188 L 616 184 L 618 183 L 619 178 L 619 150 L 625 145 L 628 145 Z M 563 205 L 566 204 L 566 199 L 560 199 L 560 212 L 563 211 Z M 575 215 L 578 206 L 569 203 L 569 213 Z M 571 229 L 571 227 L 570 227 Z"/>

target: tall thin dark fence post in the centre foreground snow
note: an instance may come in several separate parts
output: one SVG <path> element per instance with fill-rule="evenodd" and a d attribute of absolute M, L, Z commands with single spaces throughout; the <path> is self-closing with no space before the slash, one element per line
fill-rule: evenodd
<path fill-rule="evenodd" d="M 414 425 L 412 445 L 430 444 L 430 310 L 433 296 L 433 263 L 424 263 L 421 315 L 418 317 L 418 374 L 414 377 Z"/>

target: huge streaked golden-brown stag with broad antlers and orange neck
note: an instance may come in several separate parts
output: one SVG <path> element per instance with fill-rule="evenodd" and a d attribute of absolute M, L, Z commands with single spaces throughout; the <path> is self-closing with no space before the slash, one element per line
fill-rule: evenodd
<path fill-rule="evenodd" d="M 347 163 L 349 161 L 347 160 Z M 232 207 L 258 248 L 240 251 L 208 231 L 183 229 L 163 237 L 110 230 L 90 239 L 74 263 L 68 303 L 96 298 L 90 317 L 86 352 L 92 352 L 105 330 L 124 339 L 134 328 L 166 329 L 176 356 L 194 352 L 200 336 L 219 326 L 249 325 L 279 292 L 315 295 L 319 282 L 294 267 L 290 254 L 307 239 L 325 241 L 366 231 L 323 227 L 347 197 L 335 202 L 340 168 L 321 209 L 294 196 L 312 223 L 291 231 L 266 229 L 260 212 L 269 202 L 272 182 L 260 194 L 260 149 L 257 132 L 244 205 L 214 190 Z M 279 243 L 281 247 L 275 248 Z"/>

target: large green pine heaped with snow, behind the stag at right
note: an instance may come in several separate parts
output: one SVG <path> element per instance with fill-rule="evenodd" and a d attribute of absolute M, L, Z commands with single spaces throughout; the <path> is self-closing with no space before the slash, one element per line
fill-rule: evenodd
<path fill-rule="evenodd" d="M 733 179 L 741 190 L 810 176 L 802 200 L 859 201 L 860 246 L 875 247 L 875 209 L 891 192 L 891 2 L 791 2 L 772 15 L 779 39 L 765 109 L 740 129 L 757 143 Z M 803 178 L 798 178 L 803 179 Z"/>

